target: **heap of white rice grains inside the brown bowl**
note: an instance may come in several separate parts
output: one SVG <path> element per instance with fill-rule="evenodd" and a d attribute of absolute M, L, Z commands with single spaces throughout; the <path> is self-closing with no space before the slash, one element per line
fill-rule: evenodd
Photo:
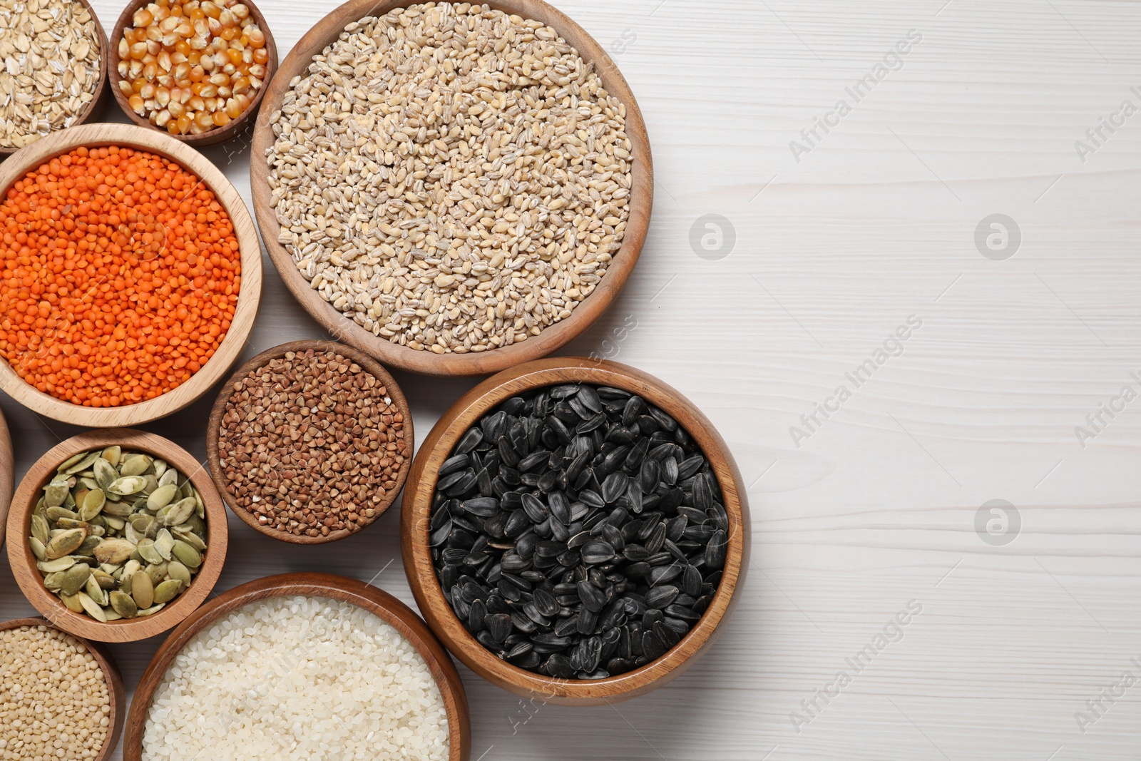
<path fill-rule="evenodd" d="M 348 602 L 254 602 L 192 639 L 155 691 L 144 761 L 448 758 L 447 713 L 419 651 Z"/>

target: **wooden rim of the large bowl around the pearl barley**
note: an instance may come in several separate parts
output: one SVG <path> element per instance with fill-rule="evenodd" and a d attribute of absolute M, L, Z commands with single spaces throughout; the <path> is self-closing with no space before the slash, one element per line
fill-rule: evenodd
<path fill-rule="evenodd" d="M 488 0 L 486 5 L 508 14 L 517 14 L 525 18 L 534 18 L 549 24 L 567 42 L 573 44 L 588 63 L 594 67 L 608 92 L 626 106 L 626 135 L 633 143 L 633 185 L 630 191 L 630 219 L 626 225 L 622 249 L 614 256 L 606 275 L 594 291 L 575 307 L 566 319 L 563 319 L 539 335 L 533 335 L 520 343 L 478 354 L 432 354 L 426 350 L 410 349 L 393 343 L 347 318 L 333 305 L 321 298 L 301 275 L 293 257 L 285 246 L 277 242 L 281 226 L 276 213 L 269 205 L 269 167 L 266 162 L 266 151 L 274 144 L 274 133 L 269 124 L 269 115 L 282 106 L 282 99 L 290 89 L 290 80 L 302 74 L 309 66 L 313 56 L 331 44 L 350 22 L 364 16 L 383 16 L 394 8 L 413 5 L 411 0 L 349 0 L 337 8 L 293 47 L 282 62 L 278 75 L 269 83 L 266 94 L 262 118 L 253 132 L 253 147 L 250 151 L 250 185 L 253 193 L 253 211 L 261 229 L 261 238 L 273 259 L 274 266 L 281 273 L 282 280 L 306 311 L 321 323 L 339 341 L 350 343 L 371 354 L 387 366 L 396 366 L 411 372 L 428 375 L 480 375 L 513 367 L 531 359 L 545 357 L 561 348 L 586 330 L 606 311 L 610 302 L 618 296 L 626 280 L 638 262 L 638 254 L 646 242 L 649 230 L 650 209 L 654 202 L 654 164 L 650 155 L 649 137 L 646 122 L 642 120 L 638 102 L 630 86 L 623 79 L 614 60 L 606 50 L 581 26 L 568 16 L 542 0 Z"/>

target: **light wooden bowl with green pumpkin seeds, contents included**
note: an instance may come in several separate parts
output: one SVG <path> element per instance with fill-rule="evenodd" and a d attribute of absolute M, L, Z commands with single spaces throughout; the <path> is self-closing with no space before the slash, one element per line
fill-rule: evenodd
<path fill-rule="evenodd" d="M 161 436 L 91 431 L 43 455 L 16 489 L 8 559 L 56 626 L 104 642 L 172 629 L 210 594 L 226 558 L 210 475 Z"/>

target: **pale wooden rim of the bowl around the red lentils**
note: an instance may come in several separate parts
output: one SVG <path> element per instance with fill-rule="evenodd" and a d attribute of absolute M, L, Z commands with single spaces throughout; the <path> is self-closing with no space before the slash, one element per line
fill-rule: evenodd
<path fill-rule="evenodd" d="M 73 404 L 35 389 L 21 379 L 7 362 L 0 361 L 0 390 L 33 412 L 87 428 L 140 426 L 178 412 L 196 400 L 225 378 L 230 365 L 242 353 L 245 339 L 253 329 L 258 302 L 261 300 L 261 248 L 242 196 L 205 156 L 157 130 L 132 124 L 84 124 L 49 135 L 0 164 L 0 197 L 7 193 L 13 183 L 42 164 L 46 159 L 80 146 L 105 145 L 139 148 L 161 155 L 197 175 L 213 191 L 234 224 L 234 236 L 237 238 L 242 256 L 242 288 L 230 330 L 215 356 L 191 377 L 191 380 L 155 399 L 120 407 L 89 407 Z"/>

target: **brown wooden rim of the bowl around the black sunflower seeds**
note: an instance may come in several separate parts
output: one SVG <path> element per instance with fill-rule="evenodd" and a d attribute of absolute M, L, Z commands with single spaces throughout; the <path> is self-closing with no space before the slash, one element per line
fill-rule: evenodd
<path fill-rule="evenodd" d="M 610 386 L 638 394 L 672 415 L 701 446 L 717 475 L 729 515 L 729 543 L 721 583 L 705 614 L 672 649 L 623 674 L 597 680 L 552 679 L 501 661 L 472 637 L 444 598 L 428 545 L 428 520 L 437 471 L 459 438 L 504 399 L 529 389 L 567 382 Z M 466 666 L 523 697 L 557 705 L 602 705 L 645 695 L 666 683 L 712 645 L 736 600 L 748 567 L 748 504 L 741 471 L 725 440 L 691 402 L 653 375 L 614 362 L 551 358 L 502 372 L 471 389 L 436 423 L 420 446 L 404 491 L 400 549 L 416 605 L 440 641 Z"/>

